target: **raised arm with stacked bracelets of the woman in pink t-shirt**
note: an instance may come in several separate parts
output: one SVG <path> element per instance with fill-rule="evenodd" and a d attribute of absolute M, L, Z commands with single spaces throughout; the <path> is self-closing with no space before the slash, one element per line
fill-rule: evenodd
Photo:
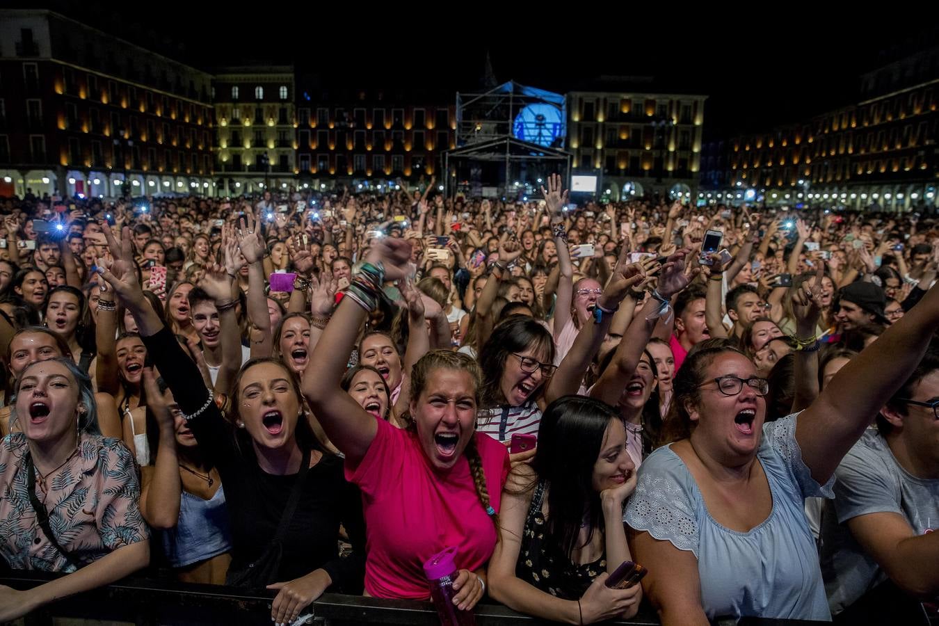
<path fill-rule="evenodd" d="M 373 416 L 342 390 L 339 381 L 346 371 L 359 327 L 368 313 L 365 307 L 371 309 L 377 304 L 377 291 L 385 279 L 397 280 L 409 273 L 410 252 L 410 244 L 403 239 L 382 239 L 372 247 L 367 259 L 369 266 L 363 268 L 367 271 L 356 278 L 346 292 L 316 344 L 310 360 L 317 367 L 308 367 L 303 373 L 303 395 L 330 441 L 353 464 L 362 461 L 372 445 L 377 424 Z"/>

